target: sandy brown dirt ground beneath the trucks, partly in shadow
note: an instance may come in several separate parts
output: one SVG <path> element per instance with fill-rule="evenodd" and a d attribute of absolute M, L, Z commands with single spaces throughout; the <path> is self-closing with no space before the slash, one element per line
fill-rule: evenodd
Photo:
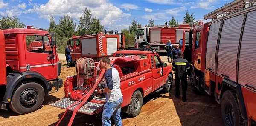
<path fill-rule="evenodd" d="M 167 60 L 164 56 L 161 58 Z M 64 60 L 61 62 L 65 64 Z M 75 67 L 63 66 L 59 78 L 65 80 L 66 76 L 73 74 L 76 74 Z M 174 90 L 173 84 L 169 93 L 160 92 L 143 98 L 142 110 L 137 117 L 131 118 L 121 113 L 123 126 L 223 126 L 220 105 L 215 102 L 215 98 L 205 94 L 195 95 L 189 85 L 188 102 L 182 102 L 174 97 Z M 0 110 L 0 126 L 55 126 L 65 110 L 49 104 L 61 100 L 63 96 L 64 90 L 61 87 L 58 92 L 45 98 L 40 109 L 26 115 Z M 71 115 L 71 111 L 67 112 L 60 126 L 67 126 Z M 100 116 L 77 113 L 72 126 L 101 126 Z M 111 124 L 114 125 L 113 120 Z"/>

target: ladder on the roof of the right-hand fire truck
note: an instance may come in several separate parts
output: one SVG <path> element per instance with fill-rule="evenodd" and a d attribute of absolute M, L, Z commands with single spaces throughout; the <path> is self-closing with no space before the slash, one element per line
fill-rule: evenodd
<path fill-rule="evenodd" d="M 212 18 L 212 20 L 214 20 L 218 17 L 223 17 L 234 11 L 253 6 L 253 4 L 256 4 L 255 1 L 256 0 L 234 0 L 233 2 L 230 2 L 208 14 L 205 14 L 204 19 L 207 20 L 208 18 Z"/>

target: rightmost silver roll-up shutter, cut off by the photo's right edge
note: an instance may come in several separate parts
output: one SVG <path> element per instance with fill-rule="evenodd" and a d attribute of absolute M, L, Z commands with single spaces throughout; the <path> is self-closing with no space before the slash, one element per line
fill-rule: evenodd
<path fill-rule="evenodd" d="M 256 87 L 256 11 L 247 14 L 239 56 L 238 83 Z"/>

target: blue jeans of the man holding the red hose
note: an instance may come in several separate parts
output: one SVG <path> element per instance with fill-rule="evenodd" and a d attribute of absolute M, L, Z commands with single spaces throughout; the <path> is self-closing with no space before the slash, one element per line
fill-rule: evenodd
<path fill-rule="evenodd" d="M 116 126 L 122 126 L 121 113 L 122 98 L 114 102 L 106 102 L 102 113 L 102 126 L 111 126 L 111 116 L 115 120 Z"/>

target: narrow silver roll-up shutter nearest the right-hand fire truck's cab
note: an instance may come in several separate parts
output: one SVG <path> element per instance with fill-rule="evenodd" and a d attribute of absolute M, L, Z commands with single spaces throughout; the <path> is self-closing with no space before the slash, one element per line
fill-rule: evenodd
<path fill-rule="evenodd" d="M 209 30 L 205 68 L 215 72 L 215 54 L 221 21 L 212 23 Z"/>

